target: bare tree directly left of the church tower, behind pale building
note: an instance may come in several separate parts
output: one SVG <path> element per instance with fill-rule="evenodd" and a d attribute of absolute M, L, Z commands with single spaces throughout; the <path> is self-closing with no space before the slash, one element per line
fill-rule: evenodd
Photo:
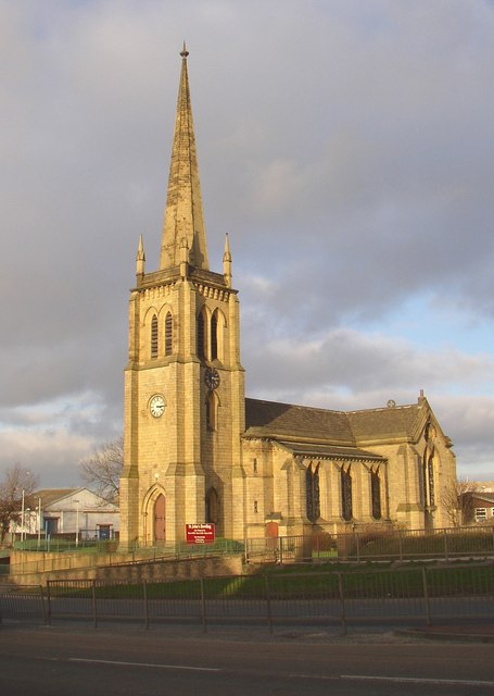
<path fill-rule="evenodd" d="M 84 481 L 109 502 L 118 501 L 121 473 L 124 467 L 124 437 L 105 443 L 79 462 Z"/>

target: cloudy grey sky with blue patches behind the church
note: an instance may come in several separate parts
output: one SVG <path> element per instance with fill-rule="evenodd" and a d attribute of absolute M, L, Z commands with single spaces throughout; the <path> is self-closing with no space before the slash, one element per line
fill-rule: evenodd
<path fill-rule="evenodd" d="M 0 0 L 0 477 L 79 485 L 122 433 L 183 40 L 246 395 L 355 410 L 423 389 L 458 475 L 494 480 L 487 0 Z"/>

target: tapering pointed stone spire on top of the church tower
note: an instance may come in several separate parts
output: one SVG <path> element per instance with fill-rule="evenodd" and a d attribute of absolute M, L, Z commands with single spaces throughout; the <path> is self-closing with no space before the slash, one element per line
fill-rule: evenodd
<path fill-rule="evenodd" d="M 208 270 L 206 233 L 187 72 L 189 51 L 185 42 L 180 55 L 182 58 L 180 86 L 175 117 L 160 269 L 179 265 L 180 248 L 183 246 L 182 240 L 185 238 L 189 249 L 189 263 L 198 269 Z"/>

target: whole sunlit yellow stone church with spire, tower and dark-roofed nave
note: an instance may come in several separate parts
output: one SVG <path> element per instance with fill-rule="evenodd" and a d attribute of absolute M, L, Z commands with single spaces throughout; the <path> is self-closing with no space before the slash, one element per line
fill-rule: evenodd
<path fill-rule="evenodd" d="M 428 400 L 331 411 L 245 398 L 228 236 L 210 270 L 183 46 L 160 268 L 129 299 L 121 548 L 448 525 L 452 442 Z M 219 265 L 219 264 L 218 264 Z"/>

